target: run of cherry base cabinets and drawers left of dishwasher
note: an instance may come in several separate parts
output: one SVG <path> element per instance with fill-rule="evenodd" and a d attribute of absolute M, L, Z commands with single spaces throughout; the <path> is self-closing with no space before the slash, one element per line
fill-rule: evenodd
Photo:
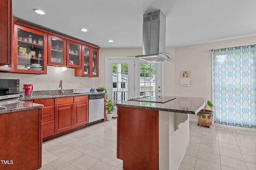
<path fill-rule="evenodd" d="M 43 141 L 84 128 L 89 120 L 88 95 L 34 100 L 42 104 Z M 61 132 L 61 133 L 60 133 Z"/>

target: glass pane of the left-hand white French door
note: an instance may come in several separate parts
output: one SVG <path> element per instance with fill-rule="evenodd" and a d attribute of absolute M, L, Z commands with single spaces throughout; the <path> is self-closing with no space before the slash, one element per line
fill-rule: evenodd
<path fill-rule="evenodd" d="M 112 102 L 128 100 L 128 64 L 112 64 Z"/>

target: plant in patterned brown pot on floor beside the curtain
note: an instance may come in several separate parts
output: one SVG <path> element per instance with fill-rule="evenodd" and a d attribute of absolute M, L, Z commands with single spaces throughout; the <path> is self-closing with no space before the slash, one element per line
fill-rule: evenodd
<path fill-rule="evenodd" d="M 204 109 L 201 109 L 196 115 L 197 115 L 197 125 L 202 125 L 206 127 L 210 127 L 212 125 L 212 110 L 206 109 L 206 106 L 209 106 L 210 108 L 213 107 L 213 104 L 211 101 L 207 101 L 207 104 L 205 105 Z"/>

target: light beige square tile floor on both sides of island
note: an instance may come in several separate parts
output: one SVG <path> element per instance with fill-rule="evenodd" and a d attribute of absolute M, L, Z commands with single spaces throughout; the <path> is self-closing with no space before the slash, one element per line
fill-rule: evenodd
<path fill-rule="evenodd" d="M 42 149 L 40 170 L 122 170 L 116 158 L 116 119 L 46 141 Z M 256 131 L 190 122 L 179 170 L 256 170 Z"/>

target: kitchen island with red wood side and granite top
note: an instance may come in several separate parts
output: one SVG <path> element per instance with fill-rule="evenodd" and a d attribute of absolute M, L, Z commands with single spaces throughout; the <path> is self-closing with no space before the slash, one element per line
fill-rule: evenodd
<path fill-rule="evenodd" d="M 117 105 L 117 158 L 124 170 L 178 170 L 189 142 L 189 114 L 200 97 L 167 97 L 166 103 L 124 101 Z"/>

